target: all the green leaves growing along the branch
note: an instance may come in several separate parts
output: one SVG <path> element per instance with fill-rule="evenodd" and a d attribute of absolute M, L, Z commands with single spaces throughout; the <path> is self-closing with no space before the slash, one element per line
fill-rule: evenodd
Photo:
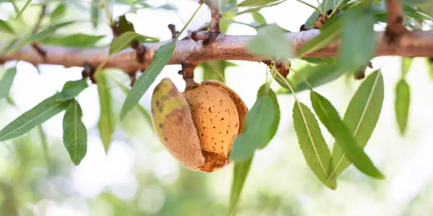
<path fill-rule="evenodd" d="M 324 1 L 318 5 L 320 11 L 314 11 L 305 21 L 306 26 L 311 27 L 319 13 L 332 10 L 330 17 L 320 34 L 304 44 L 298 51 L 296 59 L 293 57 L 295 50 L 291 42 L 284 35 L 287 30 L 275 24 L 267 23 L 260 10 L 266 7 L 277 6 L 286 0 L 245 0 L 237 4 L 237 1 L 221 1 L 223 19 L 221 30 L 224 33 L 235 17 L 241 14 L 250 13 L 254 23 L 245 24 L 255 30 L 257 35 L 246 45 L 247 49 L 259 56 L 267 56 L 272 59 L 289 59 L 291 74 L 287 78 L 274 76 L 274 79 L 281 85 L 280 91 L 270 88 L 267 81 L 257 91 L 257 98 L 249 110 L 242 135 L 235 138 L 231 159 L 233 160 L 233 179 L 229 201 L 230 213 L 235 213 L 241 198 L 243 185 L 245 184 L 248 172 L 251 167 L 254 155 L 261 149 L 266 148 L 271 142 L 280 126 L 281 113 L 278 96 L 290 94 L 296 100 L 293 102 L 292 120 L 294 131 L 298 138 L 299 147 L 305 159 L 305 163 L 311 169 L 312 174 L 318 178 L 326 187 L 336 190 L 338 177 L 350 165 L 353 164 L 360 172 L 374 179 L 384 179 L 385 175 L 380 167 L 370 159 L 364 151 L 368 140 L 373 134 L 376 124 L 382 112 L 384 101 L 384 78 L 380 68 L 371 72 L 364 80 L 360 81 L 357 92 L 352 96 L 344 117 L 340 117 L 342 111 L 336 107 L 317 90 L 342 75 L 355 71 L 364 70 L 374 56 L 374 41 L 376 34 L 373 27 L 386 20 L 386 11 L 381 7 L 383 1 L 350 2 Z M 2 1 L 4 2 L 4 1 Z M 7 1 L 6 1 L 7 2 Z M 99 42 L 106 35 L 90 35 L 85 33 L 60 33 L 61 30 L 76 24 L 76 20 L 62 20 L 72 4 L 67 1 L 48 1 L 46 4 L 53 6 L 50 11 L 50 22 L 44 23 L 34 34 L 22 33 L 16 28 L 16 20 L 23 17 L 32 1 L 25 1 L 23 7 L 16 11 L 14 20 L 0 20 L 0 32 L 6 35 L 9 40 L 6 42 L 3 52 L 13 53 L 14 51 L 38 42 L 41 45 L 56 45 L 62 47 L 97 47 Z M 152 8 L 145 1 L 103 1 L 105 5 L 99 5 L 99 1 L 90 1 L 87 8 L 90 23 L 93 28 L 98 28 L 101 19 L 101 10 L 105 9 L 107 17 L 112 17 L 108 2 L 116 2 L 129 6 L 131 11 L 142 8 Z M 302 1 L 299 1 L 302 2 Z M 404 19 L 410 28 L 417 28 L 416 24 L 422 24 L 424 20 L 431 20 L 433 16 L 431 2 L 427 0 L 402 1 Z M 2 3 L 8 4 L 8 3 Z M 12 3 L 11 3 L 12 4 Z M 79 4 L 78 4 L 79 5 Z M 15 6 L 15 5 L 14 5 Z M 55 6 L 55 7 L 54 7 Z M 147 111 L 138 104 L 143 95 L 149 91 L 156 78 L 165 68 L 172 56 L 179 36 L 189 25 L 194 15 L 198 12 L 200 5 L 184 26 L 177 37 L 172 40 L 161 42 L 161 46 L 155 51 L 152 63 L 146 68 L 140 77 L 137 78 L 131 89 L 124 87 L 119 81 L 112 81 L 125 94 L 120 112 L 120 120 L 124 120 L 128 113 L 136 107 L 145 117 L 148 124 L 151 124 Z M 314 7 L 314 6 L 313 6 Z M 336 7 L 340 8 L 339 13 Z M 176 10 L 170 5 L 153 7 L 157 10 Z M 227 20 L 224 20 L 224 17 Z M 131 46 L 131 42 L 156 42 L 158 38 L 139 34 L 134 31 L 133 26 L 128 26 L 126 16 L 122 16 L 119 25 L 127 25 L 121 34 L 110 42 L 109 55 Z M 112 25 L 113 20 L 109 23 Z M 410 24 L 410 25 L 409 25 Z M 112 26 L 110 26 L 112 27 Z M 121 26 L 122 28 L 124 26 Z M 128 27 L 128 28 L 127 28 Z M 130 28 L 129 28 L 130 27 Z M 336 58 L 305 58 L 311 52 L 318 51 L 337 40 L 341 41 L 341 50 Z M 410 104 L 410 84 L 406 79 L 412 58 L 402 58 L 401 78 L 395 87 L 395 112 L 396 123 L 404 136 L 408 131 L 408 113 Z M 429 63 L 433 68 L 433 63 Z M 204 69 L 203 79 L 225 80 L 226 69 L 237 66 L 229 61 L 216 60 L 201 62 L 200 67 Z M 274 71 L 274 70 L 272 70 Z M 365 70 L 364 70 L 365 71 Z M 430 69 L 430 76 L 433 77 L 433 70 Z M 0 100 L 8 98 L 12 87 L 16 68 L 7 69 L 0 79 Z M 267 74 L 268 75 L 268 74 Z M 104 145 L 105 152 L 109 152 L 112 136 L 115 131 L 117 116 L 114 116 L 112 105 L 112 92 L 106 70 L 97 70 L 95 80 L 97 93 L 100 102 L 99 135 Z M 82 121 L 83 113 L 80 103 L 76 100 L 84 90 L 89 88 L 88 79 L 67 81 L 61 92 L 44 99 L 32 109 L 24 112 L 15 120 L 3 127 L 0 131 L 0 141 L 19 139 L 29 133 L 34 127 L 53 116 L 65 111 L 63 118 L 63 143 L 74 165 L 78 165 L 85 158 L 87 153 L 87 128 Z M 305 101 L 299 101 L 296 93 L 310 91 L 311 107 Z M 277 95 L 280 94 L 280 95 Z M 284 96 L 284 95 L 283 95 Z M 311 109 L 312 108 L 312 109 Z M 318 120 L 320 121 L 318 121 Z M 326 143 L 319 123 L 323 124 L 327 131 L 334 138 L 332 151 Z M 42 129 L 40 129 L 42 132 Z M 42 133 L 43 134 L 43 133 Z M 186 174 L 195 175 L 195 174 Z M 107 196 L 106 199 L 112 199 Z M 168 214 L 168 213 L 167 213 Z"/>

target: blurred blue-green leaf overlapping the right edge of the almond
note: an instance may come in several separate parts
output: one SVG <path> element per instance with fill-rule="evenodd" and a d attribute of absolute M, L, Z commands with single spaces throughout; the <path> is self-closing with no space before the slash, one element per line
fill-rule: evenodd
<path fill-rule="evenodd" d="M 230 157 L 233 161 L 243 161 L 254 154 L 255 149 L 264 148 L 277 131 L 279 111 L 275 107 L 275 97 L 271 89 L 262 85 L 257 100 L 245 117 L 245 126 L 241 135 L 234 139 Z M 264 94 L 268 91 L 268 94 Z"/>

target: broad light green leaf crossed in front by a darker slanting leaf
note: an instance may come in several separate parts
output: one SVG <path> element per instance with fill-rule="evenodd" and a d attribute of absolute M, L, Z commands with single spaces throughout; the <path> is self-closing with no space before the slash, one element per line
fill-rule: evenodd
<path fill-rule="evenodd" d="M 361 148 L 365 147 L 376 127 L 382 110 L 383 98 L 383 77 L 377 70 L 361 83 L 347 106 L 343 122 Z M 340 145 L 334 143 L 331 177 L 340 175 L 350 164 L 350 160 L 345 157 Z"/>

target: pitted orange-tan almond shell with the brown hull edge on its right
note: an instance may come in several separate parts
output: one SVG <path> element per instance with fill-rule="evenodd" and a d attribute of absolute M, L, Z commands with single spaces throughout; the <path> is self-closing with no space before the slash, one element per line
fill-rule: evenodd
<path fill-rule="evenodd" d="M 197 129 L 205 162 L 202 171 L 213 172 L 230 163 L 234 138 L 242 132 L 248 112 L 242 99 L 223 83 L 205 81 L 182 93 Z"/>

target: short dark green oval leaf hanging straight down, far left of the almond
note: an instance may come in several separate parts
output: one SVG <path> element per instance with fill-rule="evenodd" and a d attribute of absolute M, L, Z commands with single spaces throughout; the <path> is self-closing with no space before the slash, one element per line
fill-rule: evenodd
<path fill-rule="evenodd" d="M 80 104 L 72 100 L 63 116 L 63 143 L 72 163 L 79 165 L 87 153 L 87 129 Z"/>

